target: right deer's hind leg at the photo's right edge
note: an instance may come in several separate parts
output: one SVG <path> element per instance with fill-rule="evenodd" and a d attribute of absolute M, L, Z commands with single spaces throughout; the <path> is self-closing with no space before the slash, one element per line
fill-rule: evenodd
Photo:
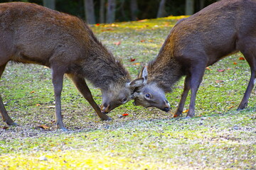
<path fill-rule="evenodd" d="M 245 50 L 241 51 L 242 54 L 245 56 L 248 64 L 250 65 L 251 76 L 250 81 L 245 91 L 245 94 L 242 98 L 240 105 L 238 106 L 238 111 L 244 109 L 248 104 L 248 99 L 250 94 L 252 93 L 252 89 L 255 86 L 256 81 L 256 47 L 251 48 L 252 50 Z"/>

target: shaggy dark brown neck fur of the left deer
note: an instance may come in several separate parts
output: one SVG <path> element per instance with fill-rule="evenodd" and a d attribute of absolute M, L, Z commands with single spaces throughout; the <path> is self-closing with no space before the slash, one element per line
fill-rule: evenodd
<path fill-rule="evenodd" d="M 82 74 L 85 79 L 92 82 L 94 86 L 102 90 L 110 89 L 110 86 L 122 86 L 131 81 L 129 72 L 122 65 L 120 60 L 114 58 L 111 52 L 95 38 L 90 28 L 90 43 L 87 47 L 86 57 L 82 65 Z"/>

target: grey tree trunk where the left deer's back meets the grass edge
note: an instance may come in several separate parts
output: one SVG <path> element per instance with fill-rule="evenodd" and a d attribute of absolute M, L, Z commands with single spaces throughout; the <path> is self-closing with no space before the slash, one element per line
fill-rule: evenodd
<path fill-rule="evenodd" d="M 94 5 L 93 0 L 84 0 L 85 5 L 85 17 L 87 23 L 95 24 L 95 12 L 94 12 Z"/>

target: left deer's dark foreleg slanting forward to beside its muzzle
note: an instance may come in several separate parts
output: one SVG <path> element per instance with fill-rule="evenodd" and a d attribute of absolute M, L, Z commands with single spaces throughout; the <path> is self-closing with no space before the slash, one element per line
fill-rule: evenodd
<path fill-rule="evenodd" d="M 78 76 L 75 76 L 74 74 L 68 74 L 68 77 L 70 77 L 70 79 L 73 80 L 73 82 L 74 82 L 75 86 L 77 87 L 78 91 L 80 91 L 82 96 L 90 103 L 90 105 L 95 110 L 97 115 L 102 120 L 111 120 L 110 117 L 108 117 L 107 115 L 103 114 L 100 111 L 100 107 L 97 106 L 97 103 L 95 102 L 95 100 L 93 100 L 92 94 L 91 94 L 90 89 L 88 88 L 88 86 L 85 82 L 85 79 L 83 79 L 81 77 L 78 77 Z"/>

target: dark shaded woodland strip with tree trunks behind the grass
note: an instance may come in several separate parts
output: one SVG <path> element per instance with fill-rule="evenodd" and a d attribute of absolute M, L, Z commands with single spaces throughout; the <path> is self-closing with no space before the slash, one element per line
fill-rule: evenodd
<path fill-rule="evenodd" d="M 9 2 L 13 0 L 0 0 Z M 78 16 L 87 23 L 192 15 L 216 0 L 20 0 Z"/>

